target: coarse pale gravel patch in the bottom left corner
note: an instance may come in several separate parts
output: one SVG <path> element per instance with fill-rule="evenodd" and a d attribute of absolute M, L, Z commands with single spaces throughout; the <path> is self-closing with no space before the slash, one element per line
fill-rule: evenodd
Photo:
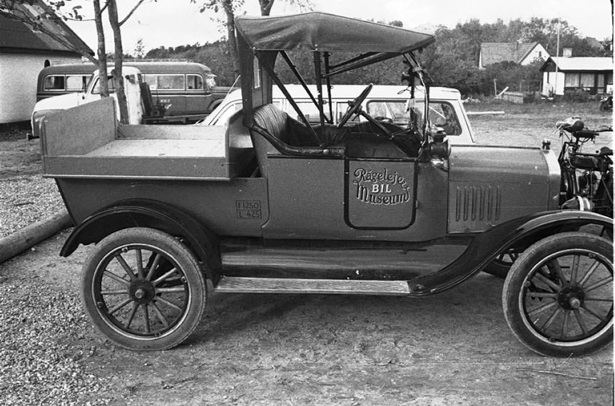
<path fill-rule="evenodd" d="M 105 380 L 79 362 L 96 352 L 75 343 L 87 324 L 78 295 L 34 281 L 1 282 L 1 404 L 106 405 Z"/>

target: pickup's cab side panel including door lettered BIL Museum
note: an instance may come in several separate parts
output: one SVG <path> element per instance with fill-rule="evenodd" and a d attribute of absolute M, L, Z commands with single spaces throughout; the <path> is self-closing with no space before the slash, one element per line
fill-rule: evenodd
<path fill-rule="evenodd" d="M 383 146 L 375 134 L 364 137 L 367 141 L 352 138 L 346 141 L 345 156 L 267 156 L 265 238 L 362 239 L 374 233 L 385 238 L 382 233 L 388 230 L 410 228 L 416 158 L 401 151 L 391 158 L 390 141 Z"/>

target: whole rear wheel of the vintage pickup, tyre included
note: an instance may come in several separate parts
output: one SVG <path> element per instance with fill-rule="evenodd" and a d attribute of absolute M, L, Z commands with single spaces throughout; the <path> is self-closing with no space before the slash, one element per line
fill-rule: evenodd
<path fill-rule="evenodd" d="M 188 338 L 203 314 L 205 278 L 171 235 L 128 228 L 96 244 L 83 265 L 81 295 L 93 325 L 129 350 L 166 350 Z"/>

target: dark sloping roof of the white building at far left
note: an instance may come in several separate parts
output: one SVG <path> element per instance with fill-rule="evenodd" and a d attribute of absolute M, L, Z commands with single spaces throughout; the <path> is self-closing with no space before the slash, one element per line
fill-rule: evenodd
<path fill-rule="evenodd" d="M 1 51 L 63 51 L 78 54 L 80 50 L 88 54 L 93 51 L 59 18 L 40 18 L 45 14 L 52 16 L 41 0 L 15 2 L 14 9 L 8 11 L 15 18 L 0 11 L 0 50 Z M 29 21 L 36 21 L 32 24 Z M 56 38 L 54 38 L 56 37 Z"/>

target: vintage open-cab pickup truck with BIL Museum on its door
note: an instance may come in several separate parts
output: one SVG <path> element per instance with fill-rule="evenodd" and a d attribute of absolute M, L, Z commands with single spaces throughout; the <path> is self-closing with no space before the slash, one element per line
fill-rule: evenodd
<path fill-rule="evenodd" d="M 567 356 L 611 342 L 611 219 L 562 209 L 548 143 L 448 142 L 469 126 L 420 65 L 432 36 L 320 13 L 236 27 L 243 109 L 223 125 L 122 125 L 110 100 L 41 123 L 44 173 L 76 224 L 61 255 L 92 245 L 82 295 L 103 335 L 161 350 L 193 333 L 212 292 L 420 297 L 497 265 L 524 345 Z M 392 59 L 402 108 L 364 106 L 369 85 L 336 117 L 338 76 Z M 317 123 L 285 90 L 283 65 Z M 272 103 L 274 84 L 297 119 Z"/>

